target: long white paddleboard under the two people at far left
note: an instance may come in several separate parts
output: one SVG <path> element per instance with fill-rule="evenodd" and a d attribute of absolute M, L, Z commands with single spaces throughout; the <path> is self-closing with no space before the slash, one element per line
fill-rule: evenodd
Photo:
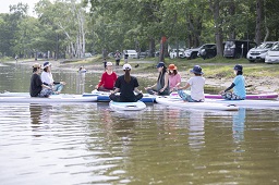
<path fill-rule="evenodd" d="M 0 97 L 0 102 L 12 103 L 60 103 L 60 102 L 94 102 L 97 97 L 83 97 L 82 95 L 54 95 L 49 98 L 38 97 Z"/>

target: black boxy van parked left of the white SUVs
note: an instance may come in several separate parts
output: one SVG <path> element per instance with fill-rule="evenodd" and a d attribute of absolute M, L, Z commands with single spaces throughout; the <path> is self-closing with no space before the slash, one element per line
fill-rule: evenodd
<path fill-rule="evenodd" d="M 223 57 L 240 59 L 246 57 L 248 50 L 256 46 L 256 42 L 250 40 L 227 40 L 225 42 Z"/>

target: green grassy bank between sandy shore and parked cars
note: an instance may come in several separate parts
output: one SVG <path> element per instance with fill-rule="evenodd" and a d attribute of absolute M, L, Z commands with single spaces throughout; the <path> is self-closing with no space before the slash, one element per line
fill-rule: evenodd
<path fill-rule="evenodd" d="M 114 62 L 114 59 L 108 59 L 108 61 Z M 144 62 L 148 61 L 148 62 Z M 158 58 L 147 58 L 130 60 L 130 63 L 136 64 L 140 66 L 133 69 L 137 73 L 153 73 L 155 71 L 155 65 L 158 62 Z M 266 64 L 263 62 L 250 63 L 246 59 L 225 59 L 225 58 L 214 58 L 208 60 L 203 60 L 201 58 L 194 60 L 186 59 L 166 59 L 166 64 L 174 63 L 180 72 L 189 72 L 194 65 L 201 65 L 205 73 L 206 77 L 211 78 L 231 78 L 233 77 L 232 67 L 235 64 L 242 64 L 244 67 L 245 76 L 251 77 L 279 77 L 279 65 L 278 64 Z M 78 64 L 92 64 L 97 65 L 102 63 L 101 57 L 97 55 L 92 59 L 84 61 L 74 62 Z M 120 64 L 123 64 L 123 60 Z"/>

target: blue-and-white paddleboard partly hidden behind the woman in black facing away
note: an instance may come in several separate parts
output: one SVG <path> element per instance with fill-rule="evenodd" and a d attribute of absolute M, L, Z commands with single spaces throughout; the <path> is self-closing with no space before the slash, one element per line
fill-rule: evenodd
<path fill-rule="evenodd" d="M 97 101 L 104 101 L 104 102 L 109 102 L 110 92 L 108 91 L 98 91 L 98 90 L 93 90 L 92 94 L 83 94 L 84 97 L 89 97 L 89 96 L 97 96 Z M 141 99 L 143 102 L 154 102 L 155 101 L 155 96 L 144 94 L 143 98 Z"/>

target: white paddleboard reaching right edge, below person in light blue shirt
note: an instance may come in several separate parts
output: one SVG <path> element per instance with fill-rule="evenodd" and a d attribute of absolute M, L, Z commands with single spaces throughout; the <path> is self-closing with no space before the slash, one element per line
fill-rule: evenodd
<path fill-rule="evenodd" d="M 220 100 L 220 99 L 206 99 L 206 102 L 215 102 L 215 103 L 229 103 L 235 104 L 242 108 L 278 108 L 279 101 L 276 100 Z"/>

